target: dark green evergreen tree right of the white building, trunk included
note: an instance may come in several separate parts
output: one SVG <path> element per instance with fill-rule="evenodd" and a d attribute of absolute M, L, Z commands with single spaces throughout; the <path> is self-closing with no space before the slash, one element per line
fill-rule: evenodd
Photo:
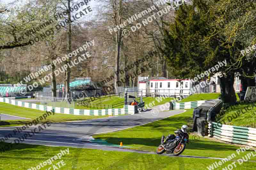
<path fill-rule="evenodd" d="M 226 48 L 230 43 L 219 33 L 220 28 L 211 26 L 212 21 L 217 18 L 209 12 L 211 5 L 202 0 L 183 4 L 176 9 L 174 22 L 167 23 L 169 27 L 165 29 L 165 55 L 171 73 L 178 78 L 194 78 L 218 62 L 226 60 L 231 65 L 235 60 L 232 55 L 235 49 Z M 236 101 L 234 87 L 228 85 L 234 81 L 235 70 L 236 67 L 231 70 L 223 66 L 211 72 L 211 75 L 217 72 L 226 73 L 220 81 L 225 102 Z"/>

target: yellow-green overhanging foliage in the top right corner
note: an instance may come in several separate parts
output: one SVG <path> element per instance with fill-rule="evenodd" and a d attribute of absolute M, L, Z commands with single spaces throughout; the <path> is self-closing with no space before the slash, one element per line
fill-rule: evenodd
<path fill-rule="evenodd" d="M 219 39 L 224 48 L 233 48 L 229 69 L 239 71 L 244 77 L 255 77 L 255 50 L 242 55 L 241 50 L 256 44 L 256 2 L 251 0 L 209 0 L 209 11 L 215 16 L 211 26 L 219 30 L 224 39 Z"/>

